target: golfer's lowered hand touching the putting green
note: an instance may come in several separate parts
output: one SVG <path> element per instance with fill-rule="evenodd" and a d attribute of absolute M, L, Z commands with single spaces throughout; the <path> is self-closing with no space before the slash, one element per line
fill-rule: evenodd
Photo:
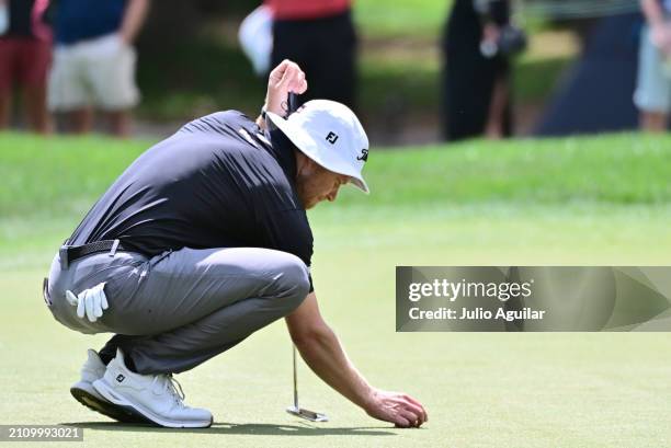
<path fill-rule="evenodd" d="M 377 420 L 391 422 L 397 427 L 420 427 L 429 420 L 422 404 L 405 393 L 374 390 L 366 413 Z"/>

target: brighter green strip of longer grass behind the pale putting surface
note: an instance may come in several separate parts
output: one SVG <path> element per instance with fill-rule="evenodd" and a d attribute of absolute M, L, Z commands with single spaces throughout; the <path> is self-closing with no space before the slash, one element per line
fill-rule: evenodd
<path fill-rule="evenodd" d="M 3 218 L 82 212 L 151 140 L 41 139 L 2 134 Z M 671 138 L 639 134 L 376 148 L 366 169 L 374 194 L 350 188 L 345 206 L 572 202 L 671 204 Z"/>

